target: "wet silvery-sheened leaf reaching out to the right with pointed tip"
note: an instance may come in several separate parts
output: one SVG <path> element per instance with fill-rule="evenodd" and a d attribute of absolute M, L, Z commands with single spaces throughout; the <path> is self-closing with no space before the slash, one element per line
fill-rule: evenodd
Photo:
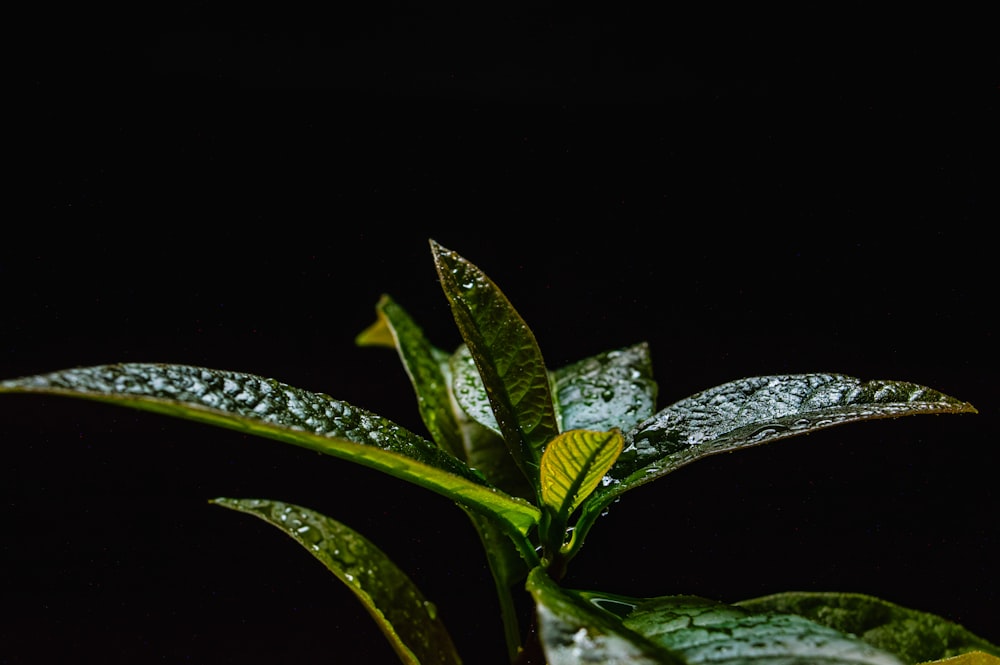
<path fill-rule="evenodd" d="M 588 511 L 708 455 L 827 427 L 916 414 L 976 413 L 966 402 L 903 381 L 841 374 L 761 376 L 725 383 L 658 412 L 625 432 L 625 450 Z"/>

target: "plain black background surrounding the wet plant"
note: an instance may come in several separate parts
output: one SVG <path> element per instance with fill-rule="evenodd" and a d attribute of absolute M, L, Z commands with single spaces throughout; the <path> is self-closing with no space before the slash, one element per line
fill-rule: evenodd
<path fill-rule="evenodd" d="M 648 340 L 661 406 L 832 371 L 980 411 L 686 467 L 627 494 L 567 585 L 858 591 L 1000 641 L 988 41 L 864 16 L 353 11 L 71 16 L 29 40 L 0 376 L 241 370 L 422 432 L 395 354 L 353 340 L 389 293 L 459 342 L 434 238 L 550 367 Z M 68 399 L 0 398 L 0 441 L 0 663 L 396 662 L 318 562 L 216 496 L 360 530 L 466 662 L 504 660 L 474 531 L 425 490 Z"/>

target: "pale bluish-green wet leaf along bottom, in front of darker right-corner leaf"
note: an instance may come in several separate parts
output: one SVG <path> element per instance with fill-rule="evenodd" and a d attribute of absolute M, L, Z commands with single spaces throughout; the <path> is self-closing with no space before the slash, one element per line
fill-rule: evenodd
<path fill-rule="evenodd" d="M 754 613 L 695 596 L 649 599 L 624 624 L 688 663 L 904 665 L 888 651 L 805 617 Z"/>

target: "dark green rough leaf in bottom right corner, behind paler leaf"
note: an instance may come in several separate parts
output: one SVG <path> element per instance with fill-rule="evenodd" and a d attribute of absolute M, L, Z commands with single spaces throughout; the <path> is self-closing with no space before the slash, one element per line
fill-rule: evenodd
<path fill-rule="evenodd" d="M 791 612 L 853 633 L 906 663 L 922 663 L 1000 647 L 935 614 L 858 593 L 788 592 L 736 603 L 754 612 Z"/>

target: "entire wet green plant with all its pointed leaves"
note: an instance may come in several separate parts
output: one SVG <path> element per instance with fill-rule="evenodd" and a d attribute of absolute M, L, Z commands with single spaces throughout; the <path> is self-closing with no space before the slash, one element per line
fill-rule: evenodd
<path fill-rule="evenodd" d="M 870 596 L 790 592 L 727 604 L 563 587 L 609 506 L 686 464 L 857 421 L 976 409 L 905 381 L 817 373 L 744 378 L 658 410 L 646 343 L 550 370 L 496 284 L 454 251 L 430 246 L 463 343 L 450 353 L 437 348 L 388 296 L 357 338 L 398 352 L 427 436 L 322 393 L 204 367 L 74 368 L 6 380 L 0 392 L 97 400 L 236 429 L 451 499 L 482 540 L 512 663 L 997 662 L 1000 648 L 963 627 Z M 463 662 L 434 604 L 362 534 L 281 501 L 213 503 L 300 543 L 353 591 L 402 662 Z M 525 598 L 527 616 L 519 610 Z"/>

